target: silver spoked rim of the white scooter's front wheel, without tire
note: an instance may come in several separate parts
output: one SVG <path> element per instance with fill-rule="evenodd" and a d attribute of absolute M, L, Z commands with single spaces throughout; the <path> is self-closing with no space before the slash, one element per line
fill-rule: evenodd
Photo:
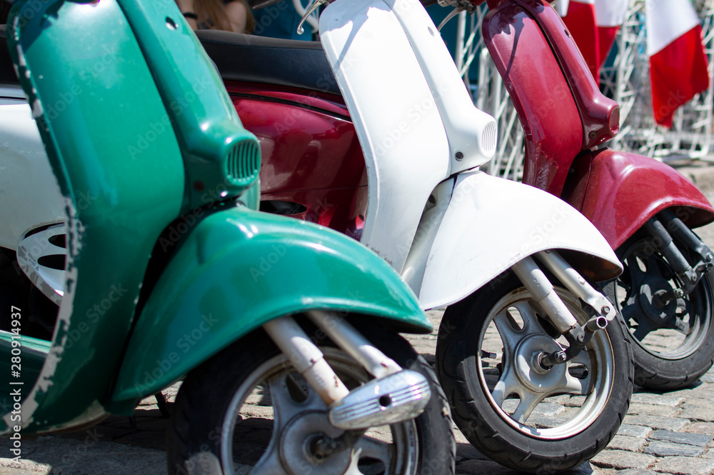
<path fill-rule="evenodd" d="M 580 324 L 588 314 L 568 291 L 558 290 Z M 493 306 L 478 341 L 478 377 L 490 406 L 507 424 L 536 439 L 565 439 L 587 429 L 613 388 L 614 356 L 605 331 L 597 331 L 573 360 L 543 370 L 538 354 L 567 347 L 543 319 L 527 289 Z"/>

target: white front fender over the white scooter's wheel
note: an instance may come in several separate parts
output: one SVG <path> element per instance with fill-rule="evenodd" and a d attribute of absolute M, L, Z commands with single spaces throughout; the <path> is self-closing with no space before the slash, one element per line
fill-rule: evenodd
<path fill-rule="evenodd" d="M 415 291 L 424 309 L 450 305 L 548 249 L 569 250 L 570 265 L 594 281 L 623 270 L 600 231 L 565 201 L 481 171 L 461 174 Z"/>

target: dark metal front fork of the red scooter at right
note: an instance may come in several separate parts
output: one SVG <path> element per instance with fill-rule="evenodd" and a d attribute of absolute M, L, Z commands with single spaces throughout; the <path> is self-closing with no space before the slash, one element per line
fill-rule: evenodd
<path fill-rule="evenodd" d="M 655 294 L 653 304 L 663 307 L 669 301 L 680 299 L 694 290 L 695 286 L 714 265 L 714 254 L 697 236 L 669 209 L 660 211 L 645 223 L 645 230 L 653 237 L 652 244 L 668 261 L 675 274 L 679 277 L 682 286 Z M 669 233 L 672 232 L 672 234 Z M 680 244 L 692 249 L 698 254 L 700 260 L 691 266 L 682 251 L 678 249 L 672 239 L 674 235 Z"/>

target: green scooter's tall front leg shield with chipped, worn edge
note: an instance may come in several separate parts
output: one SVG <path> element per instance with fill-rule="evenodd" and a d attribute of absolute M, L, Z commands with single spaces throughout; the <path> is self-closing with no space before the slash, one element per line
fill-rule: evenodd
<path fill-rule="evenodd" d="M 38 432 L 104 414 L 151 250 L 178 215 L 184 175 L 161 95 L 115 0 L 29 2 L 14 6 L 9 21 L 17 26 L 10 51 L 69 216 L 53 347 L 32 391 L 23 389 L 23 430 Z M 159 133 L 155 124 L 166 127 Z M 128 145 L 142 139 L 142 153 L 131 154 Z"/>

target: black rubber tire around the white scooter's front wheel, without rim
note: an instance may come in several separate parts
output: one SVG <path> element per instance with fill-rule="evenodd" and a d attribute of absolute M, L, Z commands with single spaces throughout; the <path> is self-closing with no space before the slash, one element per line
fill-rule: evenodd
<path fill-rule="evenodd" d="M 467 369 L 468 365 L 476 364 L 475 352 L 479 351 L 473 338 L 473 334 L 478 335 L 476 329 L 481 328 L 478 321 L 486 318 L 502 296 L 520 286 L 521 283 L 511 274 L 448 307 L 441 321 L 436 346 L 437 375 L 448 394 L 456 425 L 476 449 L 513 470 L 553 474 L 592 459 L 617 433 L 627 414 L 633 391 L 632 341 L 621 322 L 615 319 L 610 323 L 607 329 L 610 339 L 618 338 L 623 343 L 619 358 L 615 355 L 614 383 L 620 381 L 620 386 L 613 388 L 609 407 L 595 421 L 595 427 L 590 426 L 574 436 L 578 442 L 570 440 L 573 438 L 541 441 L 521 434 L 500 419 L 488 404 L 481 386 L 469 378 Z M 494 420 L 501 423 L 494 424 Z M 579 444 L 583 440 L 589 442 Z M 574 442 L 579 444 L 575 448 L 570 446 Z"/>

